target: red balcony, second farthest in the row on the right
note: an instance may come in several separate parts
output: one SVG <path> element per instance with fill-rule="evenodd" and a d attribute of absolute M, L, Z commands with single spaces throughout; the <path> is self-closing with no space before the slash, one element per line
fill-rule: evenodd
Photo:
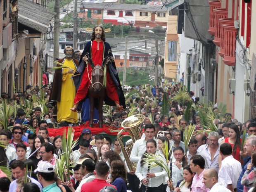
<path fill-rule="evenodd" d="M 214 12 L 214 23 L 215 23 L 215 36 L 213 43 L 215 45 L 220 46 L 220 20 L 223 18 L 228 17 L 228 11 L 226 9 L 220 8 L 220 9 L 213 9 Z"/>

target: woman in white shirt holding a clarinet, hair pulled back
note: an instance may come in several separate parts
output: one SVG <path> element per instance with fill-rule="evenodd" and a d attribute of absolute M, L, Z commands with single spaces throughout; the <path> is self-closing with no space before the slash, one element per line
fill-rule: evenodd
<path fill-rule="evenodd" d="M 162 192 L 164 189 L 163 178 L 166 171 L 161 166 L 150 167 L 142 158 L 147 158 L 146 153 L 156 154 L 156 141 L 149 139 L 146 142 L 146 151 L 137 164 L 135 175 L 142 182 L 142 191 Z"/>

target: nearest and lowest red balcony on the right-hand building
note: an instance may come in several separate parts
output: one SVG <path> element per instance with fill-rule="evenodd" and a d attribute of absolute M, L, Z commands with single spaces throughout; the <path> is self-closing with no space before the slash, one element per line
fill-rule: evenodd
<path fill-rule="evenodd" d="M 228 66 L 235 66 L 235 38 L 237 29 L 234 24 L 223 25 L 224 28 L 224 59 Z"/>

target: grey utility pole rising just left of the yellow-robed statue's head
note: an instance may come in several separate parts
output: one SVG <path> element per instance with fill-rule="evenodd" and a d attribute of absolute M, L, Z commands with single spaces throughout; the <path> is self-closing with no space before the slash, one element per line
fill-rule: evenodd
<path fill-rule="evenodd" d="M 59 0 L 55 0 L 54 31 L 53 31 L 53 59 L 59 59 Z"/>

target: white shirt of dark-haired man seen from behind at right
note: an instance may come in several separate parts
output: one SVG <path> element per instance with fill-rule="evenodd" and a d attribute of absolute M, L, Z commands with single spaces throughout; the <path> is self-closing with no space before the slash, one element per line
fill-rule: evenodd
<path fill-rule="evenodd" d="M 233 189 L 237 188 L 237 180 L 242 172 L 242 166 L 232 155 L 221 161 L 219 171 L 219 183 L 227 187 L 232 184 Z"/>

